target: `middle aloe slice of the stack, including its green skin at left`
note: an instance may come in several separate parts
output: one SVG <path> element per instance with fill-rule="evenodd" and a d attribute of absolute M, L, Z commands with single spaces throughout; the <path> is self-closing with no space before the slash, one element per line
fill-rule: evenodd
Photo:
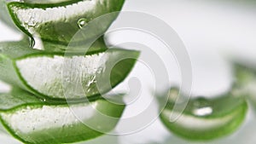
<path fill-rule="evenodd" d="M 139 55 L 125 49 L 63 55 L 29 49 L 22 42 L 1 43 L 0 49 L 0 79 L 53 101 L 80 99 L 85 95 L 90 98 L 108 92 L 126 78 Z M 110 87 L 99 87 L 97 83 L 106 78 Z M 64 93 L 72 95 L 65 97 Z"/>

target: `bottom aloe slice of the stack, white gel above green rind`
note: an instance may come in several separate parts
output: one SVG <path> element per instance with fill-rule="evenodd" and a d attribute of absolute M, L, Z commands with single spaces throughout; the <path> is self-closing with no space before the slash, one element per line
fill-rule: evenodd
<path fill-rule="evenodd" d="M 103 135 L 102 132 L 86 124 L 95 123 L 102 131 L 113 130 L 125 109 L 105 100 L 72 106 L 45 105 L 22 90 L 1 94 L 0 98 L 3 125 L 15 138 L 31 144 L 72 143 L 96 138 Z M 97 112 L 112 120 L 104 121 Z"/>

